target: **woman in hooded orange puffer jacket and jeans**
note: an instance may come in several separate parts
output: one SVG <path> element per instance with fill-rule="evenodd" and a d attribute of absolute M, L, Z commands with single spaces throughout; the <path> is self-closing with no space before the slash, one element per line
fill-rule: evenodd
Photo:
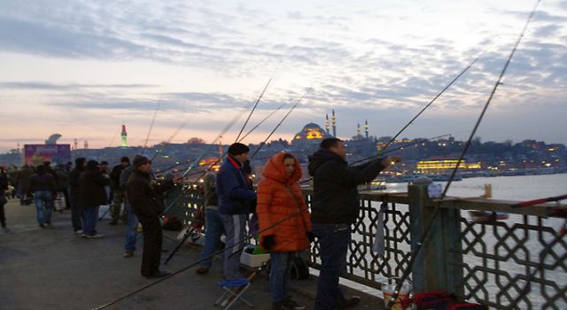
<path fill-rule="evenodd" d="M 305 309 L 291 299 L 291 263 L 311 241 L 311 219 L 299 189 L 301 167 L 290 153 L 279 153 L 264 167 L 258 184 L 260 245 L 270 252 L 272 309 Z"/>

